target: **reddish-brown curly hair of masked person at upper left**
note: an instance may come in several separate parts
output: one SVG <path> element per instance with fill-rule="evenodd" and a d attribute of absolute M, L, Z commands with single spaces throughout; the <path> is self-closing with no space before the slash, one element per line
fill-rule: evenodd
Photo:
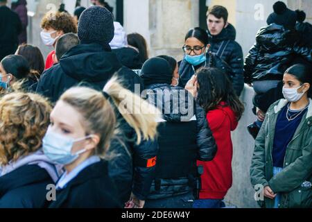
<path fill-rule="evenodd" d="M 41 28 L 53 28 L 55 31 L 77 33 L 77 25 L 67 12 L 48 12 L 41 21 Z"/>

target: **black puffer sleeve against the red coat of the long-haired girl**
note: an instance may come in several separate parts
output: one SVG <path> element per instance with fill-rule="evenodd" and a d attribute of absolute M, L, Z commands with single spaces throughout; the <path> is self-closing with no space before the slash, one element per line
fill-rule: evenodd
<path fill-rule="evenodd" d="M 196 119 L 197 119 L 197 145 L 198 145 L 198 160 L 210 161 L 214 159 L 217 151 L 216 141 L 209 128 L 206 112 L 197 103 L 196 105 Z"/>

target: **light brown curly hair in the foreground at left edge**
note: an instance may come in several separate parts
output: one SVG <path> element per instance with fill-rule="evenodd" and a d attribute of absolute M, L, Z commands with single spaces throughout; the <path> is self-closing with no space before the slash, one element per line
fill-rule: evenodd
<path fill-rule="evenodd" d="M 38 94 L 12 92 L 0 99 L 0 165 L 42 146 L 51 110 L 49 102 Z"/>

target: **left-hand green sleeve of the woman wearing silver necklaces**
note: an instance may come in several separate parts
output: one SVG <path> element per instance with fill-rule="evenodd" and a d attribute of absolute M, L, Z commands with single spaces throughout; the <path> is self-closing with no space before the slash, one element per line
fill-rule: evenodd
<path fill-rule="evenodd" d="M 271 106 L 272 107 L 272 106 Z M 254 142 L 254 153 L 252 155 L 252 162 L 250 166 L 250 182 L 252 186 L 263 185 L 266 187 L 268 181 L 266 180 L 266 155 L 265 155 L 265 128 L 269 121 L 268 112 L 264 119 L 259 134 Z"/>

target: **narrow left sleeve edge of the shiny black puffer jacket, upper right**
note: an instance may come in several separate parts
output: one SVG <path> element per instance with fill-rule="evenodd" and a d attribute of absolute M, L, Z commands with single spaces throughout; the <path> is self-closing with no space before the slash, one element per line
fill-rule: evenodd
<path fill-rule="evenodd" d="M 252 82 L 252 73 L 254 72 L 254 67 L 256 66 L 257 56 L 259 53 L 259 46 L 255 43 L 248 52 L 245 58 L 244 64 L 244 81 L 245 83 Z"/>

